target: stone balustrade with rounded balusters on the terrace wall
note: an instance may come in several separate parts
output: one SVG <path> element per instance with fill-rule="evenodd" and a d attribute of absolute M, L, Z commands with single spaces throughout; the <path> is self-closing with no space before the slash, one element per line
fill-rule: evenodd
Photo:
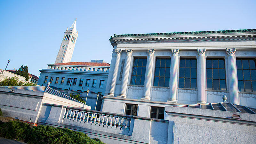
<path fill-rule="evenodd" d="M 79 125 L 89 124 L 127 132 L 130 130 L 131 125 L 131 116 L 68 107 L 63 120 L 73 121 Z"/>

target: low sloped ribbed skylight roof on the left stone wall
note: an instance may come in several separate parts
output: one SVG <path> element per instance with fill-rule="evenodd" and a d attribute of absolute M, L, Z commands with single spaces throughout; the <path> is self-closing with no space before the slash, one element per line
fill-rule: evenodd
<path fill-rule="evenodd" d="M 27 91 L 37 91 L 37 92 L 46 92 L 52 95 L 56 95 L 58 97 L 62 97 L 68 100 L 73 100 L 79 103 L 82 103 L 78 100 L 75 100 L 69 96 L 67 96 L 66 94 L 60 93 L 54 89 L 52 89 L 51 87 L 47 87 L 47 86 L 1 86 L 3 88 L 11 88 L 11 89 L 20 89 L 20 90 L 27 90 Z M 84 103 L 82 103 L 84 104 Z"/>

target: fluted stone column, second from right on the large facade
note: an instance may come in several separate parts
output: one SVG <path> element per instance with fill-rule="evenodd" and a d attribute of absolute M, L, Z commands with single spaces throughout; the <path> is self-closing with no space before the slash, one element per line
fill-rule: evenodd
<path fill-rule="evenodd" d="M 197 97 L 197 103 L 206 103 L 206 96 L 205 96 L 205 49 L 197 49 L 198 52 L 198 97 Z"/>

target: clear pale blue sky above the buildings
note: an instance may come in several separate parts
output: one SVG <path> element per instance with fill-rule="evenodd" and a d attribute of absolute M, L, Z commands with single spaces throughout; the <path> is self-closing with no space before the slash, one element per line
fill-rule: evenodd
<path fill-rule="evenodd" d="M 255 0 L 0 1 L 0 68 L 28 71 L 55 62 L 64 32 L 77 18 L 73 62 L 111 62 L 113 34 L 256 28 Z"/>

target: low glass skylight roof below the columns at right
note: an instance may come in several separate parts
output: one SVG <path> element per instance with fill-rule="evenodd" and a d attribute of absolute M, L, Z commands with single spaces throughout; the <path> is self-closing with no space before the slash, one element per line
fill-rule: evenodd
<path fill-rule="evenodd" d="M 237 104 L 232 104 L 228 102 L 218 102 L 218 103 L 206 103 L 206 104 L 193 104 L 193 105 L 179 105 L 176 107 L 188 107 L 188 108 L 202 108 L 211 110 L 221 110 L 221 111 L 231 111 L 239 113 L 249 113 L 256 114 L 256 108 L 250 108 L 246 106 L 241 106 Z"/>

